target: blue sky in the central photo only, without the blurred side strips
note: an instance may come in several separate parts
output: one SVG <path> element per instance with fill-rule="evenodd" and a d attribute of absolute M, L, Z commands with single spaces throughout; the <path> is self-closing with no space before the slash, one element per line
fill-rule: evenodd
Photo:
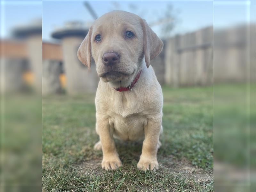
<path fill-rule="evenodd" d="M 89 3 L 98 17 L 113 10 L 124 10 L 139 15 L 149 24 L 156 22 L 166 12 L 173 12 L 176 27 L 172 34 L 193 31 L 210 26 L 213 22 L 212 1 L 89 1 Z M 168 8 L 170 5 L 172 10 Z M 60 27 L 68 20 L 93 21 L 83 1 L 44 1 L 43 8 L 44 40 L 50 40 L 54 27 Z M 160 35 L 161 27 L 158 25 L 152 29 Z"/>

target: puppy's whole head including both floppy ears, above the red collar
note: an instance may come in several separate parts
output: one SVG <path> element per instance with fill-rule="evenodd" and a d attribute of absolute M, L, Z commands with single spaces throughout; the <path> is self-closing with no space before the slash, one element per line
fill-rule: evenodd
<path fill-rule="evenodd" d="M 139 16 L 113 11 L 95 20 L 77 56 L 88 68 L 91 57 L 104 82 L 126 82 L 129 85 L 141 67 L 147 67 L 163 48 L 163 42 Z"/>

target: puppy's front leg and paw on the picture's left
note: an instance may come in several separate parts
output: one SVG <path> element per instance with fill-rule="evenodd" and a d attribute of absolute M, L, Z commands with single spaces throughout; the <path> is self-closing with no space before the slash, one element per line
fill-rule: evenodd
<path fill-rule="evenodd" d="M 97 131 L 100 135 L 102 145 L 103 160 L 101 163 L 102 169 L 115 170 L 122 165 L 113 138 L 113 129 L 110 128 L 107 118 L 97 117 Z"/>

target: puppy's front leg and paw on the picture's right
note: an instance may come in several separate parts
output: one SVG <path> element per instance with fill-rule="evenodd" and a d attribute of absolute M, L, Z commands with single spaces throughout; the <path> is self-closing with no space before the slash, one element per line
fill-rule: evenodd
<path fill-rule="evenodd" d="M 157 144 L 161 131 L 162 117 L 158 119 L 148 119 L 148 124 L 144 129 L 145 139 L 143 141 L 142 153 L 137 167 L 143 171 L 158 170 Z"/>

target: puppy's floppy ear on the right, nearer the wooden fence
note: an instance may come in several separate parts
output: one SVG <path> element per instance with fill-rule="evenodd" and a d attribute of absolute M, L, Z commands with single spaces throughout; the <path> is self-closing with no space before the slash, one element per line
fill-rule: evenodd
<path fill-rule="evenodd" d="M 163 49 L 162 40 L 148 26 L 146 20 L 140 19 L 141 27 L 144 35 L 144 56 L 147 67 L 150 65 L 150 60 L 154 59 Z"/>

